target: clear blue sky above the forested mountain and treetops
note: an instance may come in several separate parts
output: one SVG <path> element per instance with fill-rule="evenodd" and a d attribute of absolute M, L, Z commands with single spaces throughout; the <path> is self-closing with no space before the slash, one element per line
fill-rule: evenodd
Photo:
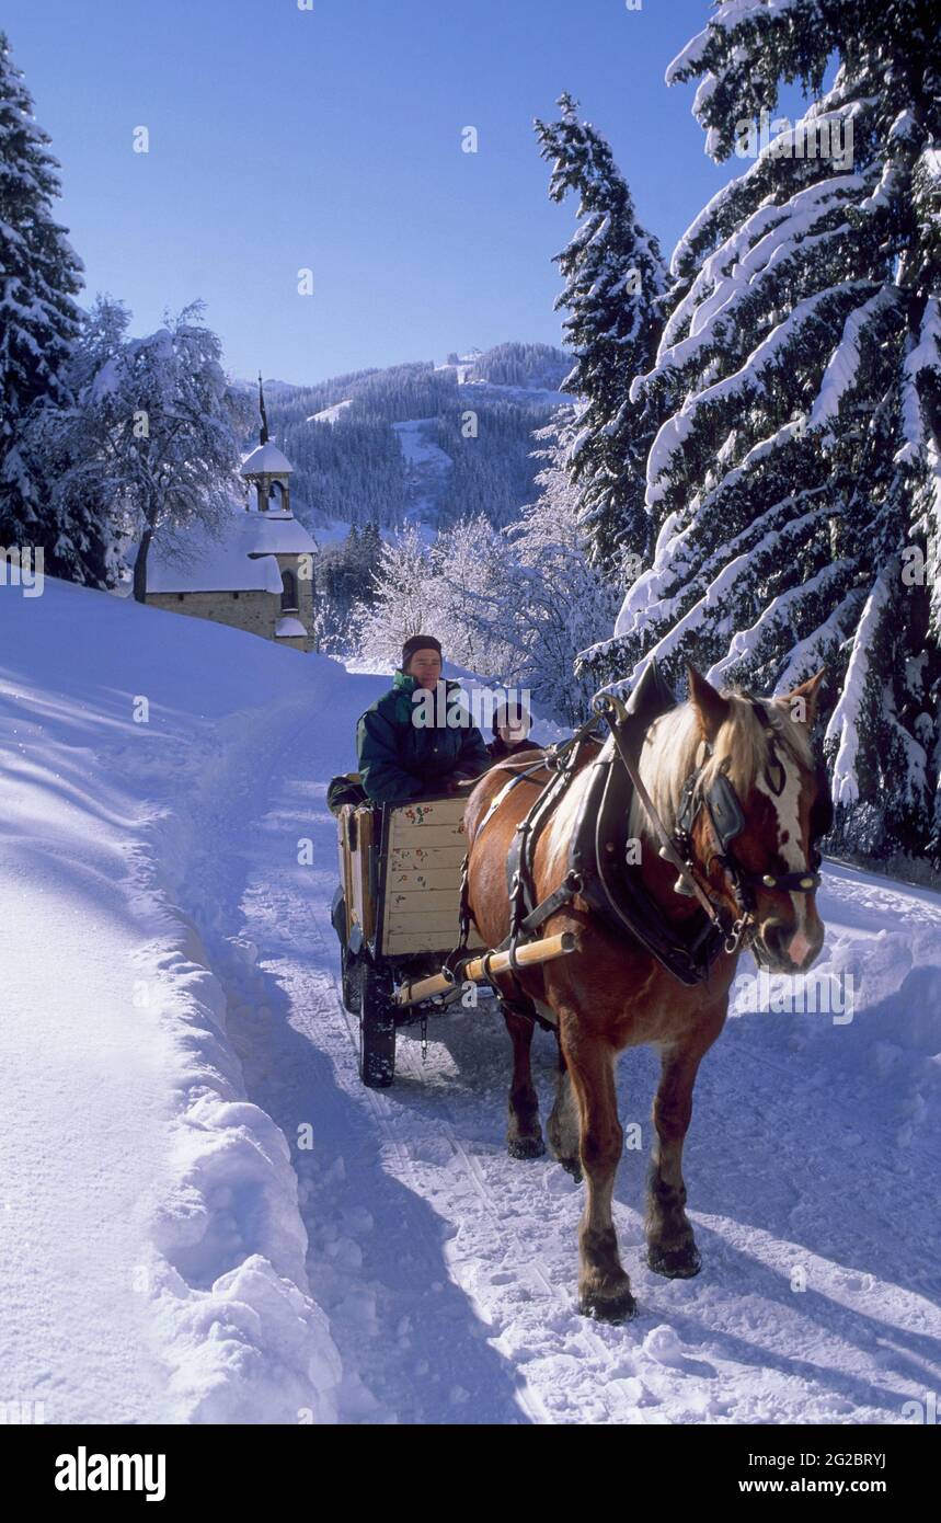
<path fill-rule="evenodd" d="M 301 0 L 301 5 L 306 0 Z M 134 329 L 193 297 L 227 364 L 315 381 L 509 338 L 557 343 L 534 116 L 576 94 L 664 247 L 716 166 L 664 69 L 707 0 L 5 0 L 90 292 Z M 480 134 L 461 152 L 461 129 Z M 137 126 L 149 152 L 132 151 Z M 297 271 L 311 268 L 314 294 Z"/>

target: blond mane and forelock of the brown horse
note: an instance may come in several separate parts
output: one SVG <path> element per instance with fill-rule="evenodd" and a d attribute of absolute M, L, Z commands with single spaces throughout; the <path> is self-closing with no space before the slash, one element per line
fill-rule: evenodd
<path fill-rule="evenodd" d="M 766 736 L 752 699 L 737 690 L 723 690 L 722 696 L 728 699 L 731 710 L 719 726 L 711 757 L 707 757 L 699 714 L 690 702 L 662 714 L 647 731 L 640 762 L 641 778 L 668 832 L 676 829 L 682 786 L 697 766 L 703 768 L 705 787 L 723 771 L 738 798 L 745 800 L 769 762 L 772 737 Z M 774 730 L 778 760 L 783 765 L 790 758 L 801 768 L 813 766 L 807 725 L 792 722 L 784 699 L 763 698 L 758 702 Z M 635 839 L 655 839 L 647 810 L 636 797 L 630 804 L 630 835 Z"/>

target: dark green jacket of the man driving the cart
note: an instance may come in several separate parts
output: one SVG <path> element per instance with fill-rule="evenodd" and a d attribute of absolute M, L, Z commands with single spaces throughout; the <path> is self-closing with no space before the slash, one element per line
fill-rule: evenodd
<path fill-rule="evenodd" d="M 388 693 L 356 725 L 359 775 L 367 798 L 404 804 L 423 793 L 443 793 L 451 778 L 478 777 L 492 765 L 475 725 L 417 725 L 414 676 L 396 672 Z M 445 682 L 446 693 L 460 688 Z M 429 694 L 434 699 L 437 694 Z"/>

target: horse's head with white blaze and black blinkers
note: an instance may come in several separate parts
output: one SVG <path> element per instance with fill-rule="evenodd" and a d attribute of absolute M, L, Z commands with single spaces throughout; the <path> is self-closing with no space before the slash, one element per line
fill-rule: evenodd
<path fill-rule="evenodd" d="M 751 917 L 755 956 L 775 972 L 804 972 L 824 944 L 816 841 L 833 812 L 810 740 L 824 675 L 757 699 L 690 669 L 696 752 L 678 830 L 716 899 Z"/>

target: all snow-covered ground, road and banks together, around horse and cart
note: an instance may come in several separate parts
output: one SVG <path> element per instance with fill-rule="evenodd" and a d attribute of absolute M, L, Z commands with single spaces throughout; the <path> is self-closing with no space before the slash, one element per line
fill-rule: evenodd
<path fill-rule="evenodd" d="M 426 1065 L 402 1036 L 391 1090 L 356 1077 L 324 793 L 385 681 L 52 582 L 0 597 L 8 1389 L 52 1421 L 903 1421 L 941 1378 L 941 897 L 827 867 L 850 1020 L 755 1013 L 743 963 L 687 1148 L 694 1281 L 643 1263 L 655 1055 L 621 1058 L 640 1316 L 588 1323 L 582 1189 L 507 1157 L 486 1002 Z"/>

